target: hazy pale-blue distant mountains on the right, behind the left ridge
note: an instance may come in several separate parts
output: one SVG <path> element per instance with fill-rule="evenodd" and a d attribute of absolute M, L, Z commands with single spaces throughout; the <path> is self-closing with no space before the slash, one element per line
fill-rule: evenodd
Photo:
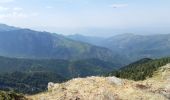
<path fill-rule="evenodd" d="M 124 55 L 131 62 L 141 58 L 159 58 L 170 56 L 170 34 L 137 35 L 121 34 L 110 38 L 96 38 L 72 35 L 73 40 L 90 43 Z M 94 40 L 94 41 L 93 41 Z"/>

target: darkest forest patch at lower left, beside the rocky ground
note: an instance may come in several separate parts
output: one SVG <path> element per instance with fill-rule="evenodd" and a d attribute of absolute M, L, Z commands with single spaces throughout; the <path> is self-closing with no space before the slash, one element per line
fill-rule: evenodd
<path fill-rule="evenodd" d="M 0 89 L 34 94 L 46 90 L 48 82 L 60 83 L 65 80 L 50 72 L 13 72 L 0 75 Z"/>

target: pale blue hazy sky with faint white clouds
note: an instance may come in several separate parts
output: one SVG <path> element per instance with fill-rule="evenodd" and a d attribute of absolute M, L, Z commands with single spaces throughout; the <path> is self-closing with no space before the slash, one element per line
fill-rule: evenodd
<path fill-rule="evenodd" d="M 71 35 L 170 33 L 170 0 L 0 0 L 0 23 Z"/>

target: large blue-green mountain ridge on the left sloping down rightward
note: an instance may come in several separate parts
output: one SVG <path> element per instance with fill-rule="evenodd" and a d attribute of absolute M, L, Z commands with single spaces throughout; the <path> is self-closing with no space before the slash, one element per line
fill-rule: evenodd
<path fill-rule="evenodd" d="M 0 55 L 17 58 L 78 60 L 95 58 L 118 65 L 124 57 L 111 50 L 49 32 L 0 25 Z"/>

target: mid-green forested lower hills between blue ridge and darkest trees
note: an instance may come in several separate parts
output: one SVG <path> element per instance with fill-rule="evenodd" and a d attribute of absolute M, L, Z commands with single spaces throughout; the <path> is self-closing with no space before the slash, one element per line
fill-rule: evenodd
<path fill-rule="evenodd" d="M 53 72 L 66 78 L 100 75 L 115 69 L 112 62 L 99 59 L 86 59 L 77 61 L 57 59 L 17 59 L 0 57 L 0 73 L 12 72 Z"/>

